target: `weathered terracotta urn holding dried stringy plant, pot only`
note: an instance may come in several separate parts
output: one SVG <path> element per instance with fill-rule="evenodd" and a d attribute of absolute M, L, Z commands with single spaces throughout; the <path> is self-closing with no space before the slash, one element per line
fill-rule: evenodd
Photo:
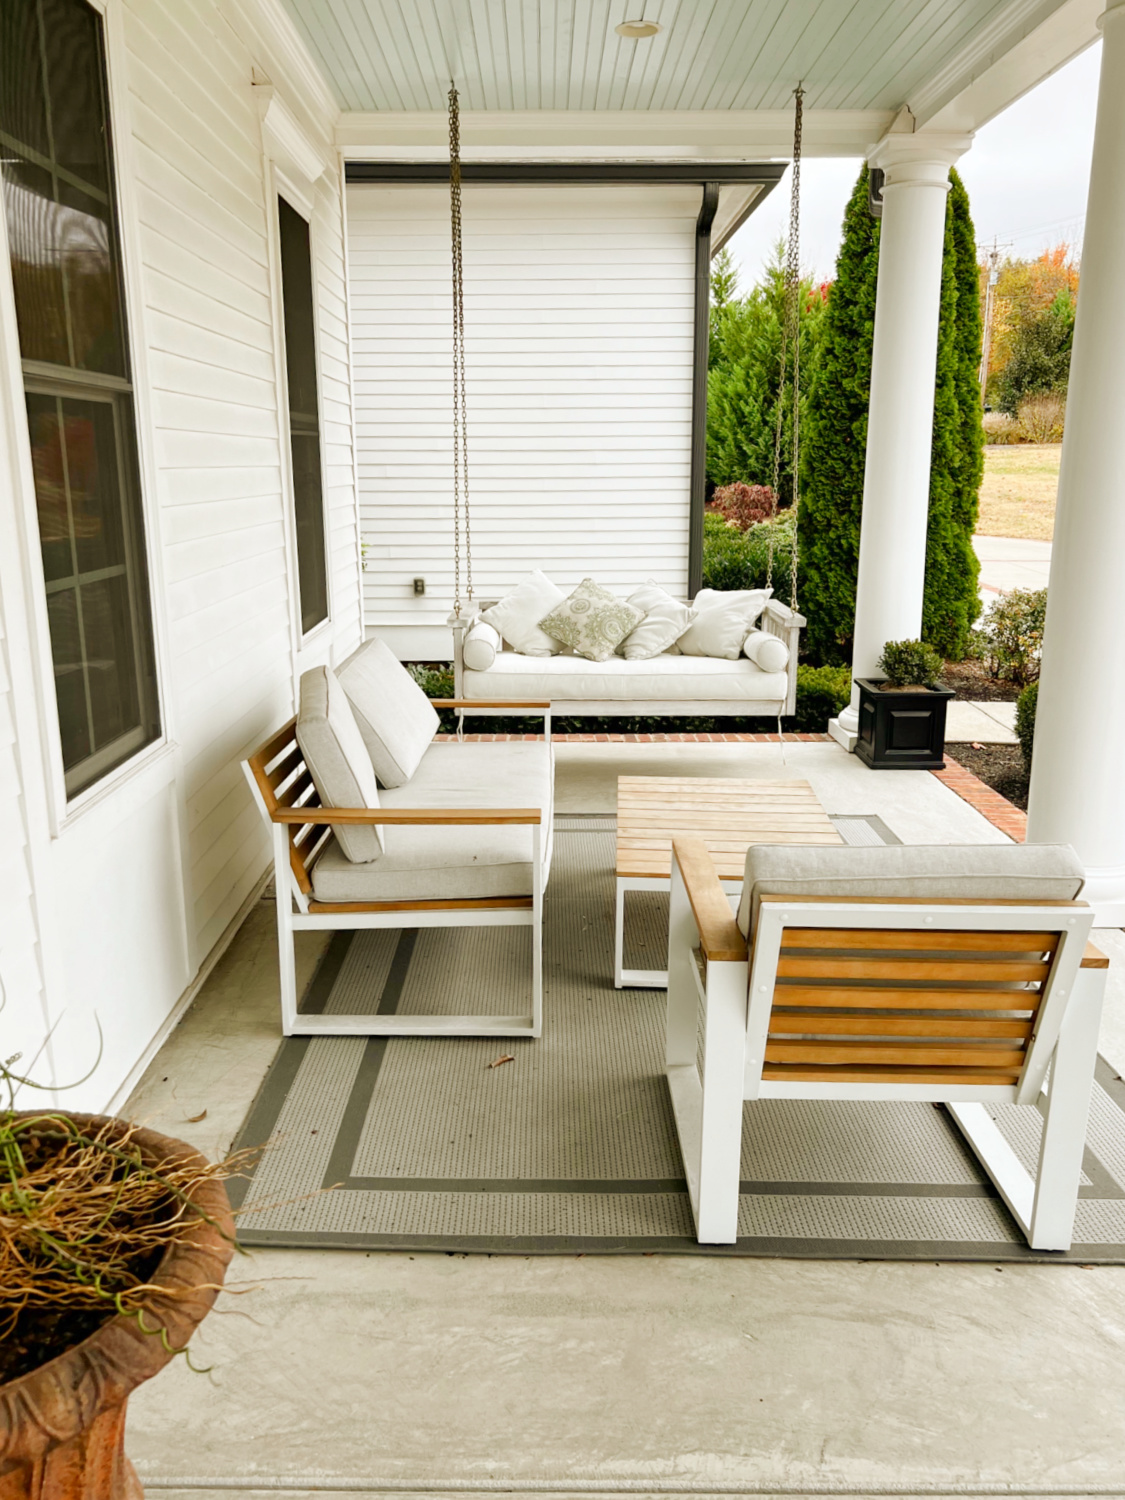
<path fill-rule="evenodd" d="M 70 1116 L 87 1131 L 105 1124 Z M 152 1166 L 201 1160 L 182 1140 L 136 1131 Z M 184 1228 L 165 1251 L 154 1281 L 190 1290 L 144 1304 L 146 1328 L 164 1328 L 183 1348 L 214 1302 L 234 1254 L 234 1221 L 222 1182 L 204 1182 L 195 1202 L 214 1224 Z M 224 1238 L 228 1234 L 230 1239 Z M 114 1317 L 46 1365 L 0 1386 L 0 1500 L 140 1500 L 136 1473 L 124 1456 L 129 1392 L 162 1370 L 170 1354 L 159 1334 L 135 1317 Z"/>

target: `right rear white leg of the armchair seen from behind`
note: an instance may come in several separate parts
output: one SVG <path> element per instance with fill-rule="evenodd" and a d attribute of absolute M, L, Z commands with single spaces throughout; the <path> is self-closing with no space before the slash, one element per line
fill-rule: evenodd
<path fill-rule="evenodd" d="M 1104 994 L 1106 970 L 1080 969 L 1052 1059 L 1028 1233 L 1032 1250 L 1070 1250 L 1074 1238 Z"/>

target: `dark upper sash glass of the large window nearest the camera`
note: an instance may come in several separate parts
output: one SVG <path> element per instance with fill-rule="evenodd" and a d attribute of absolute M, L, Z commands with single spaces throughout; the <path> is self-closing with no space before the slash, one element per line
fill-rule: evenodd
<path fill-rule="evenodd" d="M 84 0 L 0 0 L 0 15 L 34 74 L 0 70 L 21 354 L 126 376 L 100 26 Z"/>

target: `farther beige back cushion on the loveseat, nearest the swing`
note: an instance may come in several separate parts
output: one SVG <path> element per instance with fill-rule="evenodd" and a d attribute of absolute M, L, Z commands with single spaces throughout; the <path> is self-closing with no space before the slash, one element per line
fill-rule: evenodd
<path fill-rule="evenodd" d="M 338 669 L 380 786 L 405 786 L 438 732 L 438 712 L 390 646 L 372 636 Z"/>

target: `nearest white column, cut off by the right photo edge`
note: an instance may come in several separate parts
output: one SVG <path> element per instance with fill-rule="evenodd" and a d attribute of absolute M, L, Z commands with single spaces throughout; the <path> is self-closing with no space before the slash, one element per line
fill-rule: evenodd
<path fill-rule="evenodd" d="M 1125 926 L 1125 4 L 1104 46 L 1059 470 L 1028 838 L 1070 843 Z"/>

